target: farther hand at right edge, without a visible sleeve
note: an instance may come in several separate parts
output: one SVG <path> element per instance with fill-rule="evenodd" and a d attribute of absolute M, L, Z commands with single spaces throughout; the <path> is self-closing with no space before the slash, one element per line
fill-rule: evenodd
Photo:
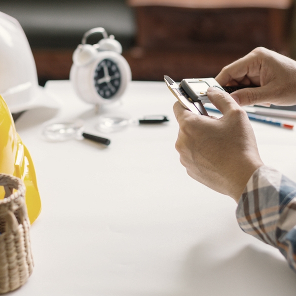
<path fill-rule="evenodd" d="M 241 106 L 296 105 L 296 61 L 264 47 L 224 67 L 216 80 L 222 86 L 259 86 L 231 93 Z"/>

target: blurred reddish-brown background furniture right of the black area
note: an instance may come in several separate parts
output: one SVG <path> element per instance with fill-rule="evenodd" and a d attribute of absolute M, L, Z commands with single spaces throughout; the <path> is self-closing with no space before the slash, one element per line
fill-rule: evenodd
<path fill-rule="evenodd" d="M 290 55 L 293 0 L 128 0 L 137 24 L 126 55 L 134 75 L 215 77 L 264 46 Z"/>

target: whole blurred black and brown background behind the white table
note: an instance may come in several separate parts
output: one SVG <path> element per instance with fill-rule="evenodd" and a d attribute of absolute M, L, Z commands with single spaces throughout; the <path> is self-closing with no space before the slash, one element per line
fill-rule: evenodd
<path fill-rule="evenodd" d="M 0 11 L 23 27 L 40 85 L 69 79 L 95 27 L 120 41 L 133 80 L 215 77 L 257 46 L 296 57 L 294 0 L 1 0 Z"/>

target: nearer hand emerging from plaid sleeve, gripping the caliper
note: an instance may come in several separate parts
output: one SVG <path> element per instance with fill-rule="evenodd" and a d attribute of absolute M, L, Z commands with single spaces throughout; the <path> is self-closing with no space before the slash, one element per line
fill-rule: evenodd
<path fill-rule="evenodd" d="M 263 165 L 255 135 L 246 112 L 228 93 L 210 87 L 207 94 L 223 116 L 196 115 L 176 102 L 176 149 L 190 177 L 238 202 L 252 174 Z"/>

